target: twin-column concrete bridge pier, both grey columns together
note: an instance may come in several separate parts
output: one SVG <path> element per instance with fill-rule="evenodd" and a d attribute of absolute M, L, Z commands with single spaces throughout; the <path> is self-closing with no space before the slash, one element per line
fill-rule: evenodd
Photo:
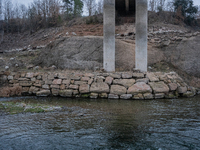
<path fill-rule="evenodd" d="M 104 0 L 104 70 L 115 71 L 115 1 L 125 2 L 125 11 L 130 11 L 130 2 L 136 2 L 135 68 L 147 71 L 147 0 Z"/>

